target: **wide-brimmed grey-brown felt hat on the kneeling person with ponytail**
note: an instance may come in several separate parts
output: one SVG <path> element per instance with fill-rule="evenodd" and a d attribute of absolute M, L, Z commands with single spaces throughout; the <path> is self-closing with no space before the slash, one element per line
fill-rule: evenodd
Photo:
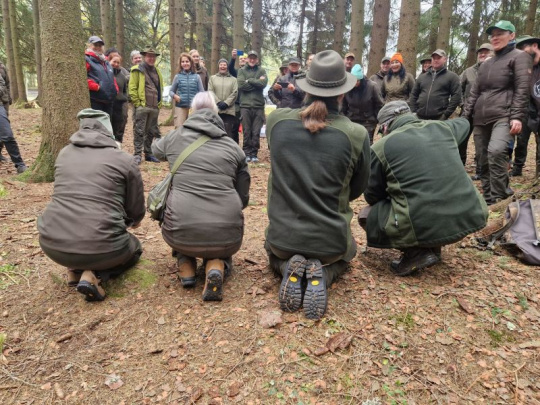
<path fill-rule="evenodd" d="M 343 59 L 336 51 L 322 51 L 313 57 L 306 77 L 297 79 L 300 89 L 314 96 L 335 97 L 356 85 L 356 77 L 345 71 Z"/>

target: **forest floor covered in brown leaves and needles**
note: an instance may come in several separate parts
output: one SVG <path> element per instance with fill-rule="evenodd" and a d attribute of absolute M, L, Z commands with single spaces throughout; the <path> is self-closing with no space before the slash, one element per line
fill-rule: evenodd
<path fill-rule="evenodd" d="M 41 111 L 11 119 L 31 166 Z M 126 138 L 132 152 L 131 120 Z M 399 278 L 389 264 L 400 253 L 366 249 L 355 218 L 359 253 L 330 289 L 326 316 L 281 313 L 263 248 L 270 162 L 261 145 L 220 303 L 202 302 L 202 274 L 196 288 L 181 287 L 149 218 L 134 230 L 142 260 L 106 284 L 104 302 L 86 303 L 39 247 L 36 218 L 53 185 L 21 182 L 1 164 L 0 404 L 540 404 L 538 268 L 479 250 L 472 237 Z M 532 182 L 533 160 L 515 189 Z M 166 170 L 142 164 L 146 192 Z"/>

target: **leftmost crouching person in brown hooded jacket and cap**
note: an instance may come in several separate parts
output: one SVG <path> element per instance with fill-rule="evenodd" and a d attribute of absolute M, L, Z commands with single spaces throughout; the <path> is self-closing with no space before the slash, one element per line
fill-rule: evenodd
<path fill-rule="evenodd" d="M 134 159 L 114 141 L 109 117 L 87 108 L 54 165 L 52 200 L 38 218 L 39 244 L 65 266 L 68 285 L 103 301 L 102 281 L 134 266 L 142 246 L 128 228 L 144 218 L 144 186 Z"/>

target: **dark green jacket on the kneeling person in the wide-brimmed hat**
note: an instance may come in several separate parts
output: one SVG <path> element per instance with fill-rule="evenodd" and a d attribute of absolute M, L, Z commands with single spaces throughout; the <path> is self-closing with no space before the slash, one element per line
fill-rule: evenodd
<path fill-rule="evenodd" d="M 309 102 L 308 102 L 309 103 Z M 267 240 L 278 249 L 310 258 L 356 253 L 353 211 L 369 178 L 366 129 L 329 106 L 328 126 L 312 134 L 300 109 L 281 108 L 267 119 L 272 162 L 268 180 Z"/>

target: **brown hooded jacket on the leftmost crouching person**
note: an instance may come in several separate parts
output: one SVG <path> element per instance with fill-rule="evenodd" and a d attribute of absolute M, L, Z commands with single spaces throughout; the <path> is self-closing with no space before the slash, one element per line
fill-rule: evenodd
<path fill-rule="evenodd" d="M 65 253 L 124 249 L 145 214 L 139 167 L 97 119 L 85 118 L 55 163 L 52 201 L 38 218 L 40 243 Z"/>

